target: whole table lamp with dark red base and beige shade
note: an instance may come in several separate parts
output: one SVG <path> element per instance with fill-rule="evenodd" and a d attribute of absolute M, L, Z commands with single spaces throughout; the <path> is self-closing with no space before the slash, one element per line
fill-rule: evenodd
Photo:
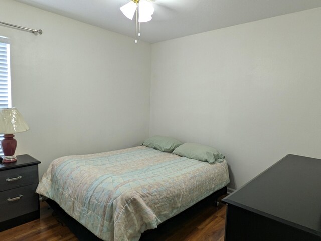
<path fill-rule="evenodd" d="M 1 141 L 4 152 L 3 163 L 17 161 L 15 155 L 17 140 L 14 139 L 14 133 L 28 130 L 28 124 L 16 108 L 0 109 L 0 134 L 4 134 L 4 139 Z"/>

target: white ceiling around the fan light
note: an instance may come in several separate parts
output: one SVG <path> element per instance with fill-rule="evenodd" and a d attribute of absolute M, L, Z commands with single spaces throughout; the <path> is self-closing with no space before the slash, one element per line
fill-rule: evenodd
<path fill-rule="evenodd" d="M 119 9 L 129 0 L 16 1 L 126 36 L 135 36 L 135 21 L 127 19 Z M 321 0 L 152 1 L 155 9 L 152 20 L 140 26 L 140 39 L 149 43 L 321 7 Z"/>

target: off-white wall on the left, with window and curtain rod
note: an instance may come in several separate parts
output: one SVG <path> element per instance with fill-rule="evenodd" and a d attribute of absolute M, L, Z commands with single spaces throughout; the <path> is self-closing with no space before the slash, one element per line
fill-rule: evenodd
<path fill-rule="evenodd" d="M 139 145 L 149 132 L 150 44 L 1 0 L 0 25 L 11 40 L 12 105 L 30 131 L 16 135 L 16 154 L 42 164 L 60 156 Z M 19 160 L 18 160 L 19 161 Z"/>

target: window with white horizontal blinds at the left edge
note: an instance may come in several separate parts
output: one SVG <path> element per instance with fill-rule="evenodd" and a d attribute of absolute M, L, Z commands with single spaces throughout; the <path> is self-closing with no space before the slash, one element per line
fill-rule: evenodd
<path fill-rule="evenodd" d="M 9 39 L 0 36 L 0 108 L 11 107 L 11 86 L 10 86 L 10 44 Z M 0 135 L 0 140 L 3 135 Z M 0 146 L 0 156 L 4 153 Z"/>

